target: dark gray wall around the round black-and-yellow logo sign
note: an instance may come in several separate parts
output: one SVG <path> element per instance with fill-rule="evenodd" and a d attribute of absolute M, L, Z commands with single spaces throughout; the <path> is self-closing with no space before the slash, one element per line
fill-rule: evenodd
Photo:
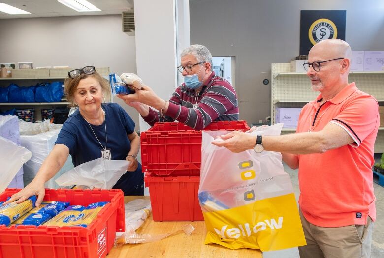
<path fill-rule="evenodd" d="M 271 114 L 271 63 L 299 54 L 300 10 L 347 10 L 346 41 L 352 50 L 384 51 L 383 0 L 190 1 L 191 44 L 213 56 L 236 57 L 240 118 L 248 123 Z"/>

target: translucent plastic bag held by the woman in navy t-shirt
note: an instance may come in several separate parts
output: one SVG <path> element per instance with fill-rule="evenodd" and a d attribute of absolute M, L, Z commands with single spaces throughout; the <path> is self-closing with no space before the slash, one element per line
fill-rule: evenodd
<path fill-rule="evenodd" d="M 129 161 L 98 158 L 65 172 L 55 181 L 61 186 L 84 185 L 90 188 L 111 189 L 127 172 Z"/>

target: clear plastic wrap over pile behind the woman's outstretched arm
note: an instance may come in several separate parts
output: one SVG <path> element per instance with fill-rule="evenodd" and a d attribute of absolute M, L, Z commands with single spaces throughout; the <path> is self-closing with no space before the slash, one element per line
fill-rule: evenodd
<path fill-rule="evenodd" d="M 20 135 L 21 146 L 32 152 L 32 158 L 23 166 L 25 185 L 29 184 L 36 176 L 44 160 L 47 158 L 48 154 L 55 145 L 59 132 L 60 130 L 53 130 L 36 135 Z M 64 166 L 53 178 L 45 183 L 45 187 L 60 188 L 59 185 L 56 184 L 55 179 L 72 168 L 72 157 L 69 155 Z"/>

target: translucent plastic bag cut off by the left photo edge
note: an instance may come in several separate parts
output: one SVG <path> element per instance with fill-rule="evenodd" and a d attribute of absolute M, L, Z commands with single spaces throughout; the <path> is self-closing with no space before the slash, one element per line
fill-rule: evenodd
<path fill-rule="evenodd" d="M 17 146 L 10 140 L 0 136 L 1 180 L 0 193 L 9 185 L 21 166 L 32 156 L 31 151 Z"/>

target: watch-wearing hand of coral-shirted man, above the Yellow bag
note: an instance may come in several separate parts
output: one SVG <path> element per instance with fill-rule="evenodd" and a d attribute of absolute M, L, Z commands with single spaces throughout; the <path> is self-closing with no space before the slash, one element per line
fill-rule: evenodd
<path fill-rule="evenodd" d="M 256 136 L 239 131 L 233 131 L 226 135 L 221 135 L 220 138 L 223 139 L 223 141 L 214 140 L 212 144 L 218 147 L 225 147 L 234 153 L 253 149 L 256 144 Z"/>

